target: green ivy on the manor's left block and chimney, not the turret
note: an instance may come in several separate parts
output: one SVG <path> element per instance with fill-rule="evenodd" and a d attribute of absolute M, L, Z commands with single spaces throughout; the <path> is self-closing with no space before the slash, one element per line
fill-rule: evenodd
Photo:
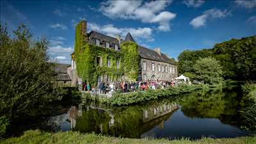
<path fill-rule="evenodd" d="M 111 81 L 122 76 L 122 54 L 113 49 L 106 49 L 90 45 L 86 41 L 87 34 L 82 34 L 82 22 L 76 26 L 75 55 L 77 74 L 89 83 L 95 85 L 99 76 L 108 76 Z M 97 57 L 102 58 L 102 65 L 97 64 Z M 108 66 L 108 59 L 111 59 L 111 67 Z M 117 68 L 116 62 L 120 61 Z"/>

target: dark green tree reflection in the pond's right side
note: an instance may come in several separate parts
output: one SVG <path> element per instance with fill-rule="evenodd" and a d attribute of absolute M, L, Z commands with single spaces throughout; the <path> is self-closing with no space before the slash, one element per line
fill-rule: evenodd
<path fill-rule="evenodd" d="M 180 100 L 181 111 L 191 118 L 218 118 L 225 124 L 237 125 L 239 116 L 239 88 L 228 87 L 210 92 L 193 92 Z"/>

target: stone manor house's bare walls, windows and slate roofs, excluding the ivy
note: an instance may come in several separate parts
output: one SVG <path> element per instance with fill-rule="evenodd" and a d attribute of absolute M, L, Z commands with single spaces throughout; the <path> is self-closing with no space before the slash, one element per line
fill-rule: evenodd
<path fill-rule="evenodd" d="M 86 21 L 82 20 L 81 24 L 81 33 L 82 35 L 86 35 L 86 42 L 90 45 L 95 45 L 99 49 L 111 49 L 112 51 L 120 52 L 122 51 L 121 44 L 122 42 L 135 42 L 130 33 L 127 33 L 124 40 L 120 38 L 120 36 L 112 37 L 108 35 L 104 35 L 102 33 L 98 33 L 97 31 L 90 31 L 90 33 L 86 33 Z M 78 24 L 77 24 L 78 26 Z M 166 54 L 161 53 L 160 48 L 155 48 L 154 50 L 148 49 L 147 47 L 143 47 L 138 45 L 138 52 L 140 56 L 140 65 L 138 81 L 147 81 L 147 80 L 156 80 L 159 81 L 172 81 L 175 77 L 177 77 L 177 65 L 175 65 L 174 61 L 170 60 Z M 76 58 L 74 58 L 74 52 L 72 53 L 72 83 L 77 83 L 79 78 L 77 78 L 76 72 Z M 119 61 L 116 61 L 115 65 L 111 65 L 111 60 L 106 60 L 106 65 L 102 65 L 102 56 L 95 57 L 95 61 L 102 68 L 104 67 L 116 67 L 119 68 Z M 113 70 L 116 70 L 113 68 Z M 101 74 L 98 76 L 97 81 L 104 82 L 115 82 L 115 81 L 123 81 L 122 76 L 111 80 L 108 76 Z M 80 80 L 81 81 L 81 80 Z"/>

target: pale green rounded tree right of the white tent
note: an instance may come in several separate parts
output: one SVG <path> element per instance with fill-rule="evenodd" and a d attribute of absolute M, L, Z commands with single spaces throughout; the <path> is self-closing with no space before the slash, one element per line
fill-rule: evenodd
<path fill-rule="evenodd" d="M 214 58 L 199 58 L 194 65 L 196 79 L 204 83 L 220 83 L 222 70 L 218 61 Z"/>

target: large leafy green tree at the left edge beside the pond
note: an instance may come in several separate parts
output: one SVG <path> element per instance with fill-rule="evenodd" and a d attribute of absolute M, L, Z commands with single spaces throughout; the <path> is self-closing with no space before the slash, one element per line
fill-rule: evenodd
<path fill-rule="evenodd" d="M 0 26 L 0 114 L 11 122 L 39 116 L 47 104 L 61 99 L 54 84 L 52 63 L 47 56 L 47 40 L 33 41 L 26 26 L 10 37 Z"/>

